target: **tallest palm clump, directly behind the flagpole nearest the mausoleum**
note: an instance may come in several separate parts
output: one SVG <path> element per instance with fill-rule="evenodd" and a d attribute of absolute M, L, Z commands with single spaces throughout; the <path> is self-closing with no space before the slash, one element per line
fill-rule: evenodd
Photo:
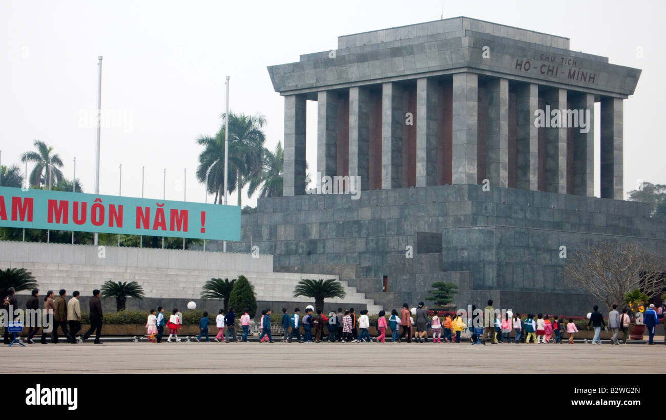
<path fill-rule="evenodd" d="M 222 115 L 224 118 L 224 114 Z M 262 130 L 266 118 L 262 115 L 246 116 L 229 112 L 229 156 L 228 156 L 228 191 L 238 191 L 240 207 L 240 191 L 248 183 L 248 179 L 256 177 L 262 167 L 264 141 L 266 136 Z M 204 150 L 199 154 L 199 165 L 196 177 L 200 182 L 206 181 L 206 171 L 212 167 L 208 175 L 208 192 L 215 193 L 216 201 L 222 201 L 224 195 L 224 134 L 226 122 L 214 138 L 202 136 L 196 140 Z M 214 165 L 214 166 L 213 166 Z"/>

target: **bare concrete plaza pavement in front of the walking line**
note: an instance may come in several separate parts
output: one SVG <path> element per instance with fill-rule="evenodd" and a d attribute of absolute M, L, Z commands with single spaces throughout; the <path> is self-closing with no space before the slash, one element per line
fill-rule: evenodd
<path fill-rule="evenodd" d="M 0 348 L 3 373 L 666 373 L 645 344 L 115 343 Z"/>

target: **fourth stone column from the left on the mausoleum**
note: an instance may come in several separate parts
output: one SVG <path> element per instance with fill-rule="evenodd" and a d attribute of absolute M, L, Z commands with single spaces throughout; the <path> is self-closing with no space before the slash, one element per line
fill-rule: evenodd
<path fill-rule="evenodd" d="M 382 85 L 382 189 L 402 187 L 402 86 Z"/>

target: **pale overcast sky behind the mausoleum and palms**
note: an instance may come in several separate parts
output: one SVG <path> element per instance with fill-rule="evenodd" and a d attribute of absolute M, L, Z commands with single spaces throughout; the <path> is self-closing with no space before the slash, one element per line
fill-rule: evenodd
<path fill-rule="evenodd" d="M 624 104 L 625 192 L 637 179 L 666 183 L 661 114 L 666 97 L 663 1 L 445 1 L 464 15 L 571 39 L 574 51 L 641 68 Z M 214 135 L 230 108 L 266 116 L 266 146 L 282 140 L 283 98 L 266 66 L 335 49 L 337 37 L 440 19 L 442 1 L 0 1 L 0 150 L 20 163 L 39 139 L 93 193 L 97 56 L 103 58 L 100 192 L 204 201 L 194 171 L 200 135 Z M 640 50 L 640 51 L 639 51 Z M 639 52 L 642 51 L 642 57 Z M 659 78 L 662 80 L 659 80 Z M 597 104 L 598 106 L 598 104 Z M 598 109 L 597 109 L 598 111 Z M 597 115 L 598 112 L 597 112 Z M 595 129 L 599 137 L 599 127 Z M 598 154 L 598 143 L 597 143 Z M 598 160 L 598 159 L 597 159 Z M 308 101 L 308 161 L 316 168 L 316 102 Z M 23 168 L 23 164 L 21 164 Z M 31 170 L 29 168 L 29 170 Z M 597 195 L 599 171 L 597 175 Z M 212 200 L 212 197 L 210 197 Z M 244 204 L 256 204 L 243 193 Z M 230 196 L 236 203 L 236 196 Z"/>

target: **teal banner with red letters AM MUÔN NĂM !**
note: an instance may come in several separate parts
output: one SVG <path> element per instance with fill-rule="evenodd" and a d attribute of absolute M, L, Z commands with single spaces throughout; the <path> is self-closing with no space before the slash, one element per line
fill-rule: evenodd
<path fill-rule="evenodd" d="M 240 241 L 240 207 L 0 187 L 0 227 Z"/>

